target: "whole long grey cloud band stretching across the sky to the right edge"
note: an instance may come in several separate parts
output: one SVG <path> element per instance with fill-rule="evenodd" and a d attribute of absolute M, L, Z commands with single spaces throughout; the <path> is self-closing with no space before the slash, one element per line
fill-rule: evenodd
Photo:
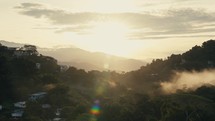
<path fill-rule="evenodd" d="M 130 27 L 130 39 L 162 39 L 173 37 L 211 37 L 215 30 L 215 14 L 202 9 L 171 9 L 153 13 L 96 13 L 69 12 L 37 3 L 22 3 L 15 7 L 20 14 L 34 18 L 45 18 L 51 24 L 63 27 L 57 33 L 87 33 L 97 22 L 118 21 Z M 90 27 L 89 27 L 90 26 Z M 206 34 L 207 33 L 207 34 Z M 162 35 L 162 36 L 160 36 Z"/>

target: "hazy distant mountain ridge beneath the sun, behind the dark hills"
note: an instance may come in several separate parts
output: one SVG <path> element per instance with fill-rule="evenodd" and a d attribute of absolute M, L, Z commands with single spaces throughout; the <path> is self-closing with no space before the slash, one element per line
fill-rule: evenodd
<path fill-rule="evenodd" d="M 10 47 L 21 47 L 24 44 L 0 41 L 1 44 Z M 109 55 L 101 52 L 89 52 L 75 47 L 67 48 L 38 48 L 39 53 L 56 58 L 59 64 L 74 66 L 79 69 L 89 70 L 115 70 L 128 72 L 137 70 L 146 62 Z"/>

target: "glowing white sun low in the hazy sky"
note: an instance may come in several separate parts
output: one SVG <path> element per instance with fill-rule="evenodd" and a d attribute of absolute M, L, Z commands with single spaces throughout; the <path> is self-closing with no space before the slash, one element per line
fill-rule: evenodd
<path fill-rule="evenodd" d="M 91 30 L 89 39 L 94 49 L 102 52 L 125 55 L 128 46 L 126 39 L 128 27 L 117 22 L 101 22 L 97 23 Z"/>

